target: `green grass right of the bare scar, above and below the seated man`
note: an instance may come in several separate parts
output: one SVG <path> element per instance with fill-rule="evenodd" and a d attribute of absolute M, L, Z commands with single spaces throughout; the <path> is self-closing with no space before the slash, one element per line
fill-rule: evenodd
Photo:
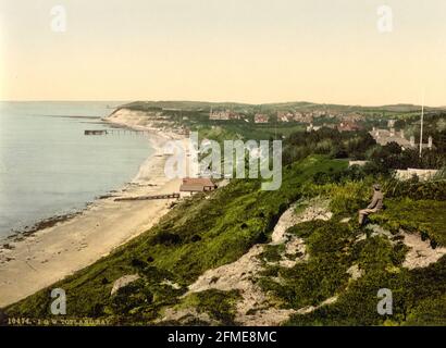
<path fill-rule="evenodd" d="M 292 270 L 270 271 L 280 275 L 283 284 L 277 286 L 263 278 L 263 286 L 287 306 L 297 303 L 295 308 L 320 304 L 335 295 L 338 300 L 312 313 L 296 314 L 287 325 L 446 325 L 446 257 L 425 269 L 409 271 L 401 268 L 407 251 L 401 243 L 392 245 L 380 236 L 355 243 L 355 228 L 336 223 L 343 216 L 351 216 L 358 202 L 364 201 L 360 192 L 369 185 L 366 181 L 320 187 L 333 198 L 334 221 L 300 224 L 290 229 L 306 240 L 309 262 Z M 384 211 L 370 216 L 373 223 L 392 232 L 401 227 L 422 237 L 425 234 L 433 247 L 436 243 L 446 245 L 444 200 L 392 198 L 385 203 Z M 346 270 L 352 264 L 363 272 L 356 282 L 346 277 Z M 381 288 L 393 290 L 392 315 L 383 316 L 376 311 Z"/>

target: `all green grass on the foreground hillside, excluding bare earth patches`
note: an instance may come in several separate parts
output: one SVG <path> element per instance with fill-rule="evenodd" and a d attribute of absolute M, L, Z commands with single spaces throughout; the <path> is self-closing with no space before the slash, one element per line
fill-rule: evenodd
<path fill-rule="evenodd" d="M 384 237 L 355 243 L 356 228 L 340 223 L 369 200 L 373 177 L 342 184 L 314 183 L 318 173 L 334 174 L 346 162 L 311 157 L 284 170 L 278 191 L 261 191 L 256 181 L 233 181 L 210 195 L 195 197 L 173 209 L 156 227 L 128 243 L 113 254 L 51 286 L 62 287 L 69 296 L 69 314 L 74 318 L 107 318 L 112 323 L 147 324 L 165 306 L 194 306 L 211 319 L 233 324 L 235 291 L 209 290 L 178 300 L 186 286 L 203 271 L 232 262 L 253 244 L 267 240 L 281 213 L 301 197 L 326 196 L 335 213 L 329 222 L 308 222 L 290 229 L 305 239 L 310 259 L 292 269 L 269 266 L 259 285 L 284 308 L 299 309 L 321 304 L 332 296 L 338 300 L 306 315 L 294 315 L 288 325 L 421 325 L 446 324 L 446 258 L 425 269 L 401 268 L 406 248 Z M 320 176 L 319 176 L 320 177 Z M 320 181 L 320 178 L 318 179 Z M 442 191 L 442 190 L 439 190 Z M 406 196 L 406 195 L 405 195 Z M 385 227 L 425 232 L 444 244 L 446 222 L 442 199 L 386 200 L 387 209 L 371 219 Z M 281 247 L 267 248 L 262 256 L 274 261 Z M 364 272 L 349 281 L 346 271 L 358 264 Z M 113 282 L 125 274 L 143 278 L 110 297 Z M 280 276 L 282 282 L 275 282 Z M 163 284 L 170 279 L 178 289 Z M 379 315 L 377 290 L 391 288 L 394 314 Z M 10 307 L 10 314 L 42 318 L 48 315 L 49 289 Z M 200 324 L 197 322 L 197 324 Z"/>

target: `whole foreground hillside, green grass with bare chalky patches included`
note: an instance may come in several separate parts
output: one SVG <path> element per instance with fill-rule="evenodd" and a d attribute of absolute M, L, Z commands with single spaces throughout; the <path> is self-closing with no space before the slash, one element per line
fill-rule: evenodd
<path fill-rule="evenodd" d="M 355 171 L 344 160 L 312 156 L 284 169 L 277 191 L 232 181 L 207 199 L 183 201 L 157 226 L 51 288 L 65 289 L 69 318 L 109 324 L 444 325 L 446 236 L 438 217 L 446 185 L 391 190 L 391 178 Z M 358 229 L 356 211 L 375 179 L 389 208 Z M 424 194 L 409 202 L 411 191 Z M 423 219 L 398 212 L 408 207 Z M 111 295 L 128 276 L 134 282 Z M 376 293 L 386 287 L 394 289 L 392 316 L 375 310 Z M 7 312 L 51 318 L 49 291 Z"/>

